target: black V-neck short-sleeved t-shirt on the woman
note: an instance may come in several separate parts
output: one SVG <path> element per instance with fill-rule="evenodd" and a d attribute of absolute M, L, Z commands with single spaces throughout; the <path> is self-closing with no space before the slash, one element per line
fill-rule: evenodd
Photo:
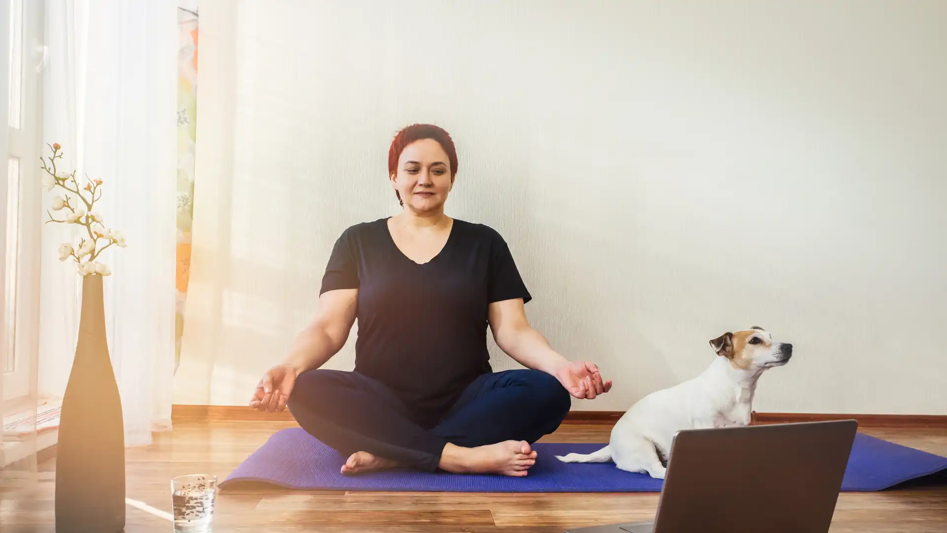
<path fill-rule="evenodd" d="M 359 289 L 355 371 L 424 418 L 446 412 L 491 372 L 489 304 L 531 299 L 500 234 L 456 219 L 444 248 L 423 265 L 395 245 L 386 218 L 348 228 L 320 294 L 342 288 Z"/>

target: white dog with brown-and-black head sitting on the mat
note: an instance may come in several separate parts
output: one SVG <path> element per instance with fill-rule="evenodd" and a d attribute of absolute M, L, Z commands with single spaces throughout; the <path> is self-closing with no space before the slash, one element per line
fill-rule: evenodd
<path fill-rule="evenodd" d="M 710 340 L 710 346 L 720 357 L 704 373 L 638 400 L 618 419 L 608 446 L 557 458 L 565 463 L 614 461 L 619 469 L 664 479 L 675 432 L 748 425 L 759 376 L 786 364 L 793 345 L 774 342 L 772 335 L 754 326 L 724 333 Z"/>

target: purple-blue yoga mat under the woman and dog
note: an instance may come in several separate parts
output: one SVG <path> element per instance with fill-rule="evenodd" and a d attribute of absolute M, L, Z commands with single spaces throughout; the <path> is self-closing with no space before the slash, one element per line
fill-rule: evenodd
<path fill-rule="evenodd" d="M 495 475 L 457 475 L 405 470 L 344 476 L 345 457 L 300 428 L 282 430 L 248 457 L 221 483 L 262 482 L 277 487 L 331 490 L 391 490 L 429 492 L 658 492 L 662 481 L 647 474 L 626 472 L 612 463 L 568 464 L 555 455 L 589 453 L 601 444 L 544 444 L 523 478 Z M 858 433 L 842 483 L 843 491 L 873 491 L 893 487 L 947 470 L 947 457 L 914 450 Z M 943 483 L 947 476 L 932 481 Z"/>

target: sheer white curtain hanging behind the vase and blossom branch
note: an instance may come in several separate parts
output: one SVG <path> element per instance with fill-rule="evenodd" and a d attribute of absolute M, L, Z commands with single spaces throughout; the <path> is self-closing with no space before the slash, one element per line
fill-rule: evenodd
<path fill-rule="evenodd" d="M 174 370 L 177 12 L 173 0 L 48 0 L 43 141 L 104 182 L 99 210 L 127 248 L 102 254 L 109 351 L 126 446 L 170 429 Z M 44 198 L 48 207 L 49 198 Z M 40 390 L 62 395 L 75 353 L 80 277 L 43 233 Z"/>

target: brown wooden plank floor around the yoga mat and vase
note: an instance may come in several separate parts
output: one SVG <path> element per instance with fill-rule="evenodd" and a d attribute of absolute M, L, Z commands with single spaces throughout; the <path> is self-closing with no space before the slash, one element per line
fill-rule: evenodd
<path fill-rule="evenodd" d="M 189 422 L 128 452 L 128 497 L 170 511 L 172 476 L 211 473 L 223 479 L 273 432 L 291 422 Z M 548 442 L 604 442 L 609 428 L 567 425 Z M 867 429 L 869 434 L 947 455 L 947 430 Z M 51 469 L 45 465 L 45 469 Z M 30 494 L 0 496 L 0 531 L 53 531 L 52 480 Z M 657 494 L 451 494 L 301 492 L 251 488 L 218 495 L 221 532 L 563 532 L 565 528 L 653 518 Z M 126 531 L 170 531 L 170 523 L 128 508 Z M 947 531 L 947 487 L 843 493 L 831 531 Z"/>

